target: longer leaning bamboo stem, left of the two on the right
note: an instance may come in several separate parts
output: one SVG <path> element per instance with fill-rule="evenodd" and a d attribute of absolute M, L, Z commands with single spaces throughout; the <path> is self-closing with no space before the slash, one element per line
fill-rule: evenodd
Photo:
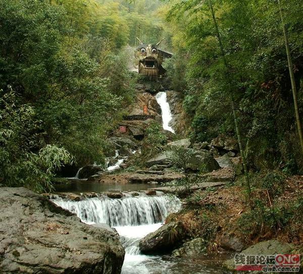
<path fill-rule="evenodd" d="M 245 157 L 244 150 L 243 150 L 242 137 L 241 137 L 241 133 L 240 133 L 240 129 L 239 129 L 239 122 L 238 122 L 238 115 L 237 115 L 237 112 L 236 112 L 233 90 L 232 90 L 232 86 L 231 86 L 231 78 L 230 78 L 230 75 L 229 75 L 229 66 L 228 66 L 228 63 L 227 63 L 227 60 L 226 60 L 226 57 L 225 57 L 225 52 L 224 52 L 224 48 L 223 48 L 223 44 L 222 44 L 222 40 L 221 40 L 221 35 L 220 35 L 220 32 L 219 32 L 219 28 L 218 28 L 218 24 L 217 24 L 215 12 L 214 12 L 211 0 L 209 0 L 209 7 L 210 7 L 210 10 L 212 12 L 212 17 L 213 17 L 213 21 L 214 21 L 214 25 L 215 25 L 217 38 L 218 38 L 218 41 L 219 41 L 221 55 L 223 57 L 224 65 L 225 65 L 225 67 L 228 71 L 228 73 L 227 73 L 228 82 L 229 82 L 229 85 L 228 85 L 229 88 L 228 89 L 229 89 L 230 100 L 231 100 L 232 114 L 233 114 L 233 117 L 234 117 L 235 128 L 236 128 L 236 133 L 237 133 L 237 137 L 238 137 L 238 145 L 239 145 L 240 154 L 241 154 L 241 158 L 242 158 L 244 175 L 245 175 L 245 178 L 246 178 L 246 191 L 247 191 L 248 197 L 250 197 L 249 175 L 248 175 L 248 171 L 247 171 L 246 157 Z"/>

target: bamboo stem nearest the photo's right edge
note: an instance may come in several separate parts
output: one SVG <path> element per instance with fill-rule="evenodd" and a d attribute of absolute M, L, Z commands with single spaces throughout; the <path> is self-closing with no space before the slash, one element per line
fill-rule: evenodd
<path fill-rule="evenodd" d="M 288 37 L 287 37 L 286 28 L 285 28 L 285 24 L 284 24 L 284 18 L 283 18 L 283 12 L 282 12 L 280 0 L 278 0 L 278 6 L 279 6 L 281 24 L 282 24 L 282 29 L 283 29 L 285 48 L 286 48 L 286 55 L 287 55 L 288 70 L 289 70 L 289 76 L 290 76 L 290 82 L 291 82 L 296 124 L 297 124 L 299 139 L 300 139 L 301 153 L 303 155 L 303 134 L 302 134 L 302 127 L 301 127 L 300 114 L 299 114 L 299 108 L 298 108 L 297 92 L 296 92 L 296 87 L 295 87 L 295 82 L 294 82 L 294 75 L 293 75 L 293 71 L 292 71 L 292 62 L 291 62 L 291 56 L 290 56 Z"/>

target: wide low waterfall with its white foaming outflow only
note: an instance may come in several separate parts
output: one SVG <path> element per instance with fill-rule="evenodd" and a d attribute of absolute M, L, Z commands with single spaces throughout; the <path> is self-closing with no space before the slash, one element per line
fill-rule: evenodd
<path fill-rule="evenodd" d="M 168 195 L 124 197 L 111 199 L 95 197 L 82 201 L 62 198 L 52 200 L 57 205 L 77 214 L 86 224 L 106 223 L 114 227 L 125 248 L 122 273 L 150 273 L 146 263 L 159 263 L 159 256 L 140 254 L 139 240 L 162 226 L 167 215 L 181 207 L 178 198 Z M 148 263 L 147 263 L 148 264 Z"/>

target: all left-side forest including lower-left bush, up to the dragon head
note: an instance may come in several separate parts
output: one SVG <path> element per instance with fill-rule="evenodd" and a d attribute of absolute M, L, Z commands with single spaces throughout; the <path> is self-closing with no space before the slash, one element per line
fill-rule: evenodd
<path fill-rule="evenodd" d="M 107 132 L 134 96 L 135 79 L 128 70 L 133 50 L 125 46 L 135 45 L 136 36 L 162 37 L 161 6 L 148 1 L 2 2 L 1 180 L 43 188 L 62 163 L 104 160 Z M 54 153 L 44 155 L 45 147 Z"/>

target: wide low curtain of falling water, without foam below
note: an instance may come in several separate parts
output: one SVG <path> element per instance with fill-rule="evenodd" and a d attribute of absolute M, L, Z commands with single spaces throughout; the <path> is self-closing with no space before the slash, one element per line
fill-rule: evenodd
<path fill-rule="evenodd" d="M 87 198 L 82 201 L 52 200 L 62 208 L 76 213 L 86 224 L 106 223 L 111 227 L 140 226 L 161 223 L 179 208 L 180 201 L 167 195 L 135 196 L 122 199 Z"/>

